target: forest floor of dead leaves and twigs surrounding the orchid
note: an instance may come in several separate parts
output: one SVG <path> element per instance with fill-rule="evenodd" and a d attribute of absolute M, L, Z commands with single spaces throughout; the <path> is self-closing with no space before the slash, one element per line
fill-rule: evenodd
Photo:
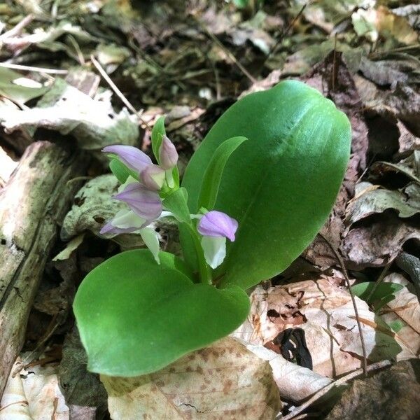
<path fill-rule="evenodd" d="M 418 419 L 419 29 L 415 0 L 0 3 L 0 420 Z M 142 242 L 99 235 L 116 213 L 101 149 L 151 154 L 165 115 L 182 176 L 230 105 L 287 78 L 351 121 L 320 235 L 250 291 L 235 340 L 214 344 L 235 358 L 105 389 L 71 304 L 92 268 Z"/>

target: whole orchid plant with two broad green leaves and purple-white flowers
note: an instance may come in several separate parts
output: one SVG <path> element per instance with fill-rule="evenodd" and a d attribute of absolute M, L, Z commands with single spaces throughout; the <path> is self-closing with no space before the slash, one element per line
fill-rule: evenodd
<path fill-rule="evenodd" d="M 137 376 L 211 344 L 246 318 L 246 289 L 279 274 L 332 208 L 349 160 L 349 120 L 318 91 L 286 80 L 230 107 L 179 183 L 160 118 L 155 163 L 108 146 L 124 208 L 101 234 L 141 235 L 90 272 L 74 312 L 92 372 Z M 154 223 L 179 224 L 183 258 L 160 251 Z"/>

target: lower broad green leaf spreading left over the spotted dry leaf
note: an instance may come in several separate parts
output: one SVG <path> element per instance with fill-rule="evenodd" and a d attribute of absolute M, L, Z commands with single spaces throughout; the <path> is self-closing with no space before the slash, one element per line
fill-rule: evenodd
<path fill-rule="evenodd" d="M 87 274 L 73 309 L 88 369 L 132 377 L 159 370 L 235 330 L 249 300 L 237 287 L 195 284 L 183 262 L 126 251 Z"/>

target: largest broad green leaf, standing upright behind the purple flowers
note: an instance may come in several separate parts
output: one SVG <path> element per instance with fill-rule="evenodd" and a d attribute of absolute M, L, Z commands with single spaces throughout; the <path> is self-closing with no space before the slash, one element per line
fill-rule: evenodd
<path fill-rule="evenodd" d="M 219 286 L 248 288 L 286 269 L 310 244 L 335 202 L 349 160 L 351 127 L 317 90 L 286 80 L 248 94 L 216 122 L 183 177 L 191 213 L 217 148 L 244 136 L 228 160 L 215 204 L 237 219 L 237 239 L 216 270 Z M 190 246 L 181 241 L 193 266 Z"/>

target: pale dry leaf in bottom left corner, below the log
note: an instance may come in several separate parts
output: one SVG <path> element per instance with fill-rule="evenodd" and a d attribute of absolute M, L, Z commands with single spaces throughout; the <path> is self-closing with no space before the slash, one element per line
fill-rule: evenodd
<path fill-rule="evenodd" d="M 33 366 L 10 376 L 0 402 L 0 419 L 69 420 L 69 408 L 58 387 L 57 366 Z"/>

